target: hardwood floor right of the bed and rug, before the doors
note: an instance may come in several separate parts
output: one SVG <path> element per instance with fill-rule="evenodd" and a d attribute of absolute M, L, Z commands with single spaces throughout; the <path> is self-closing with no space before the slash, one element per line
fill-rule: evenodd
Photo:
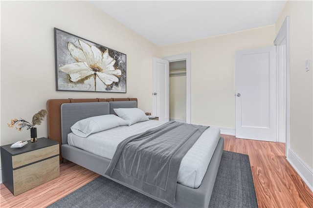
<path fill-rule="evenodd" d="M 224 150 L 249 155 L 260 208 L 313 208 L 313 193 L 285 157 L 285 144 L 222 135 Z"/>

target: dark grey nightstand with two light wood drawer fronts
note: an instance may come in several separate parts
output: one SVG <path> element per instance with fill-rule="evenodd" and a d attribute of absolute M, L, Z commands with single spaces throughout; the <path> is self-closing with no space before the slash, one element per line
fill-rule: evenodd
<path fill-rule="evenodd" d="M 39 138 L 21 148 L 1 146 L 2 183 L 16 196 L 60 176 L 59 143 Z"/>

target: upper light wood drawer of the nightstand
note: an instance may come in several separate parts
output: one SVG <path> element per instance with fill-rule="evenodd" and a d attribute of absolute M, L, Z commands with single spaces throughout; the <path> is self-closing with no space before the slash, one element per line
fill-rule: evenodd
<path fill-rule="evenodd" d="M 17 168 L 59 154 L 59 145 L 48 146 L 12 156 L 12 167 Z"/>

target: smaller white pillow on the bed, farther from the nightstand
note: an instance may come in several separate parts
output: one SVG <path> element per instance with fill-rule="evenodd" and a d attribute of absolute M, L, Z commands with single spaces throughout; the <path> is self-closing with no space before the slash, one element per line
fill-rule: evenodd
<path fill-rule="evenodd" d="M 113 110 L 119 117 L 127 121 L 128 125 L 149 120 L 145 112 L 139 108 L 114 108 Z"/>

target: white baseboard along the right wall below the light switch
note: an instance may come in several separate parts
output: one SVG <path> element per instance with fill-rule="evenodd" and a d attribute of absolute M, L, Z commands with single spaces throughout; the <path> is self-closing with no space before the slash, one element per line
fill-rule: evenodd
<path fill-rule="evenodd" d="M 288 162 L 299 174 L 302 180 L 313 191 L 313 169 L 303 162 L 303 160 L 292 149 L 288 150 Z"/>

